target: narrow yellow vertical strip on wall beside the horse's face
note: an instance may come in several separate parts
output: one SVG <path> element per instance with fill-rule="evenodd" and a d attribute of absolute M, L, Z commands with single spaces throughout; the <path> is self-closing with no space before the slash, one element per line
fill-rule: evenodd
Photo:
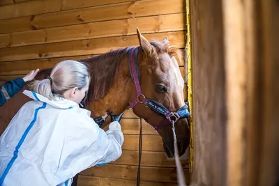
<path fill-rule="evenodd" d="M 193 140 L 193 72 L 192 72 L 192 60 L 191 60 L 191 42 L 190 42 L 190 0 L 186 0 L 186 22 L 187 22 L 187 75 L 188 75 L 188 103 L 190 107 L 190 161 L 189 172 L 193 172 L 193 155 L 194 155 L 194 140 Z"/>

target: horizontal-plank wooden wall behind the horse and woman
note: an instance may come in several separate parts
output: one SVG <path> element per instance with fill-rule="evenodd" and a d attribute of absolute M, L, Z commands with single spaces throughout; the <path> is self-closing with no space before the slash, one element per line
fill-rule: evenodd
<path fill-rule="evenodd" d="M 136 27 L 149 40 L 167 36 L 181 49 L 186 45 L 184 0 L 20 1 L 0 3 L 1 79 L 22 77 L 35 68 L 52 68 L 64 59 L 137 46 Z M 179 65 L 184 77 L 183 63 Z M 131 111 L 121 121 L 123 155 L 116 162 L 83 171 L 78 185 L 135 185 L 140 123 L 141 185 L 176 185 L 175 163 L 167 160 L 160 136 Z M 186 160 L 183 166 L 188 178 Z"/>

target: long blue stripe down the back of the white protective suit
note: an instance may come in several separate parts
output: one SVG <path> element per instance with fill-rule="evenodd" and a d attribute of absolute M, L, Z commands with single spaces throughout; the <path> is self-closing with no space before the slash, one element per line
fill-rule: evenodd
<path fill-rule="evenodd" d="M 10 160 L 10 162 L 8 162 L 8 165 L 5 169 L 5 171 L 3 172 L 3 175 L 1 176 L 0 178 L 0 186 L 3 185 L 3 181 L 5 180 L 7 174 L 8 174 L 8 171 L 10 171 L 10 168 L 13 166 L 13 163 L 15 162 L 15 160 L 17 159 L 17 154 L 18 154 L 18 150 L 20 149 L 20 147 L 22 146 L 25 138 L 27 137 L 27 134 L 29 133 L 29 131 L 31 130 L 31 128 L 33 127 L 34 123 L 36 122 L 37 120 L 37 115 L 38 115 L 38 111 L 40 109 L 45 109 L 46 107 L 46 103 L 44 102 L 43 105 L 41 107 L 38 107 L 37 109 L 35 109 L 35 114 L 34 114 L 34 117 L 33 117 L 33 120 L 31 121 L 31 123 L 29 124 L 29 126 L 27 127 L 27 129 L 24 131 L 22 137 L 20 138 L 20 141 L 18 142 L 17 146 L 15 147 L 15 151 L 13 151 L 13 157 L 12 159 Z"/>

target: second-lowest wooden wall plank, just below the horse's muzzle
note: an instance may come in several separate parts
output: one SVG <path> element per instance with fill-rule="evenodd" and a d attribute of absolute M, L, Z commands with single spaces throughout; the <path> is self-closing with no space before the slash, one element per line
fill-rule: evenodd
<path fill-rule="evenodd" d="M 188 170 L 184 169 L 186 180 L 189 181 L 190 176 L 187 172 Z M 137 179 L 137 166 L 107 164 L 105 166 L 93 166 L 90 169 L 82 171 L 80 174 L 86 176 L 106 176 L 107 178 L 135 180 Z M 140 180 L 176 183 L 176 168 L 141 166 Z"/>

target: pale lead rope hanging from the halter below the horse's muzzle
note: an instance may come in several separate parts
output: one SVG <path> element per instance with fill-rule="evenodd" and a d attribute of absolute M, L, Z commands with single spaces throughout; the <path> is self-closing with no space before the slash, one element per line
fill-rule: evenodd
<path fill-rule="evenodd" d="M 174 134 L 174 157 L 175 157 L 175 164 L 176 164 L 177 180 L 179 186 L 187 186 L 185 183 L 183 168 L 179 159 L 179 153 L 178 153 L 179 150 L 177 149 L 174 121 L 172 121 L 172 132 Z"/>

